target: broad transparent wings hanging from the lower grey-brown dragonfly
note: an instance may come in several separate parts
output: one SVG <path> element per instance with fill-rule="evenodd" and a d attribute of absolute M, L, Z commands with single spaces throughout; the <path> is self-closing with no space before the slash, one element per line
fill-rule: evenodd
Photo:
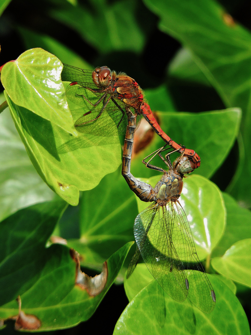
<path fill-rule="evenodd" d="M 151 205 L 137 216 L 134 233 L 143 260 L 161 287 L 175 300 L 181 302 L 187 296 L 201 311 L 210 313 L 214 291 L 180 204 Z"/>

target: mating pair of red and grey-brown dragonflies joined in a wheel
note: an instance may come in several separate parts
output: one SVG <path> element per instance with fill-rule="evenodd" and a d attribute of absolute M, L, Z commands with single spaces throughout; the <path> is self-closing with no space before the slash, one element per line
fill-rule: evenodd
<path fill-rule="evenodd" d="M 67 91 L 79 85 L 79 88 L 94 95 L 95 100 L 91 100 L 81 92 L 74 93 L 77 105 L 81 107 L 87 102 L 91 108 L 76 121 L 78 131 L 104 136 L 102 128 L 106 128 L 105 135 L 112 136 L 124 135 L 126 128 L 122 175 L 142 201 L 153 202 L 136 217 L 134 235 L 137 249 L 129 264 L 127 277 L 133 272 L 141 254 L 151 274 L 172 298 L 182 302 L 188 297 L 201 311 L 210 313 L 215 306 L 215 293 L 198 259 L 186 214 L 178 200 L 184 174 L 200 166 L 200 157 L 194 150 L 177 144 L 165 134 L 150 106 L 144 102 L 138 83 L 126 74 L 117 75 L 105 66 L 89 71 L 64 65 L 62 80 L 72 82 Z M 134 134 L 141 116 L 166 143 L 143 160 L 150 169 L 163 172 L 155 188 L 137 180 L 130 172 Z M 115 133 L 114 128 L 109 131 L 106 127 L 110 119 L 116 125 Z M 162 152 L 167 150 L 167 145 L 173 150 L 163 157 Z M 175 151 L 181 155 L 172 164 L 170 154 Z M 150 163 L 157 155 L 168 166 L 168 172 Z"/>

